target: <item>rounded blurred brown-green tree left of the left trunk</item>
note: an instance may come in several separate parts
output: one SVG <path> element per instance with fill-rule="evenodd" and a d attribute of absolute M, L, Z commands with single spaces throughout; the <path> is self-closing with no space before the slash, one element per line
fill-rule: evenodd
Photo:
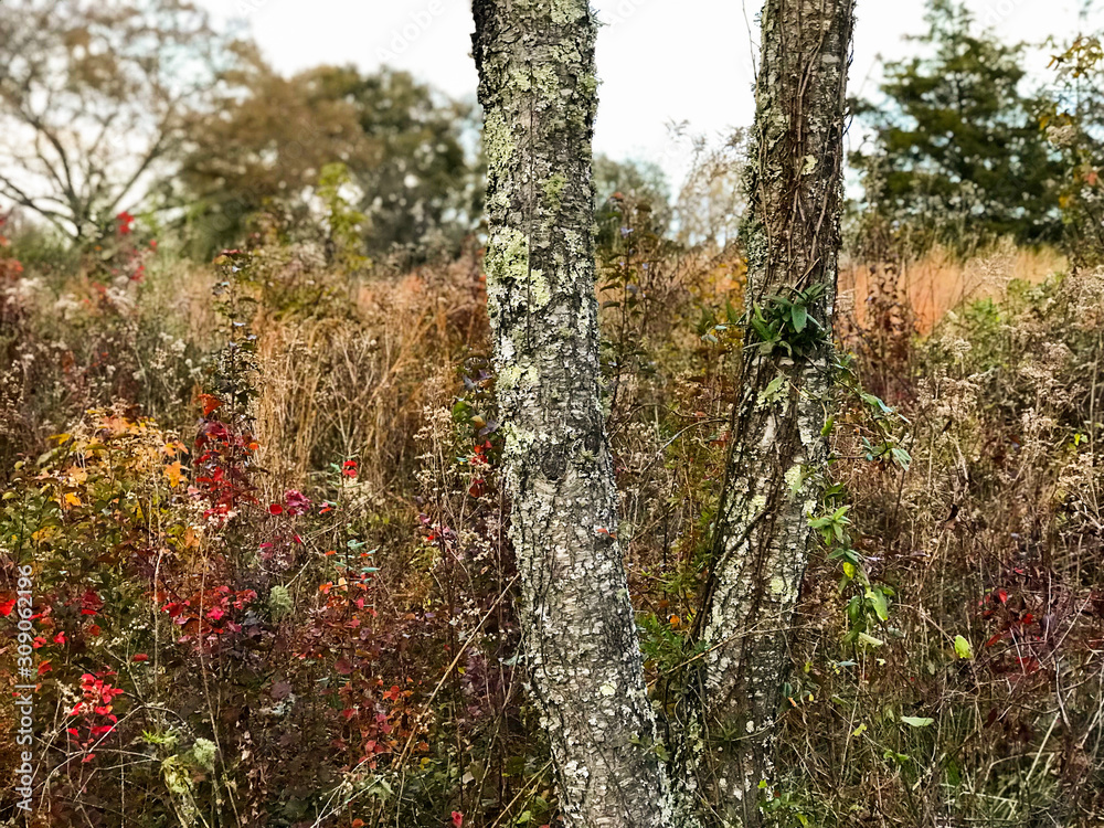
<path fill-rule="evenodd" d="M 478 200 L 466 107 L 390 70 L 322 66 L 285 78 L 258 61 L 238 81 L 248 94 L 195 123 L 181 170 L 205 248 L 240 236 L 265 204 L 306 215 L 330 162 L 349 170 L 373 254 L 433 235 L 455 243 L 470 229 Z"/>

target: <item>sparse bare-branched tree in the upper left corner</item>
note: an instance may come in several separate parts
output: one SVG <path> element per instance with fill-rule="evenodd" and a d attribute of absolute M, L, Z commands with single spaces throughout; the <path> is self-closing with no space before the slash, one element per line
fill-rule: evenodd
<path fill-rule="evenodd" d="M 238 51 L 183 0 L 7 2 L 0 195 L 95 235 L 135 209 Z"/>

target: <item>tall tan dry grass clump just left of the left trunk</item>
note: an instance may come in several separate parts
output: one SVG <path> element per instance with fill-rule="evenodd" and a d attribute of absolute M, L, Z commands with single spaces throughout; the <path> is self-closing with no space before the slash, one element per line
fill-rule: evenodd
<path fill-rule="evenodd" d="M 274 485 L 349 458 L 376 491 L 408 484 L 426 385 L 484 336 L 484 301 L 463 259 L 367 283 L 340 312 L 258 318 L 256 431 Z"/>

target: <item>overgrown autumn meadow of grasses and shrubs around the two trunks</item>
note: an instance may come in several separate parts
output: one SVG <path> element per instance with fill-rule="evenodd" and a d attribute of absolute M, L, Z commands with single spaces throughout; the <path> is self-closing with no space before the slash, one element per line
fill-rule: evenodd
<path fill-rule="evenodd" d="M 622 522 L 603 529 L 666 753 L 701 657 L 745 269 L 615 197 L 597 296 Z M 342 210 L 259 216 L 213 265 L 121 216 L 98 257 L 18 238 L 0 257 L 0 614 L 33 562 L 42 825 L 556 822 L 479 251 L 396 272 Z M 890 251 L 845 286 L 778 825 L 1104 807 L 1104 274 L 1039 278 L 1061 265 Z M 962 295 L 925 306 L 920 276 Z"/>

